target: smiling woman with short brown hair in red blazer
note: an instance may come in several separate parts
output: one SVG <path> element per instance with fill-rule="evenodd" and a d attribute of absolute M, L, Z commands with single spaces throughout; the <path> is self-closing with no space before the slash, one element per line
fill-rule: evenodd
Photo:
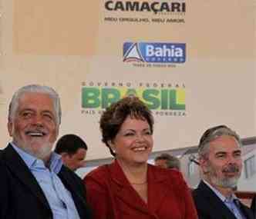
<path fill-rule="evenodd" d="M 197 218 L 180 172 L 147 164 L 153 116 L 139 98 L 129 96 L 107 108 L 100 128 L 116 159 L 84 179 L 95 219 Z"/>

